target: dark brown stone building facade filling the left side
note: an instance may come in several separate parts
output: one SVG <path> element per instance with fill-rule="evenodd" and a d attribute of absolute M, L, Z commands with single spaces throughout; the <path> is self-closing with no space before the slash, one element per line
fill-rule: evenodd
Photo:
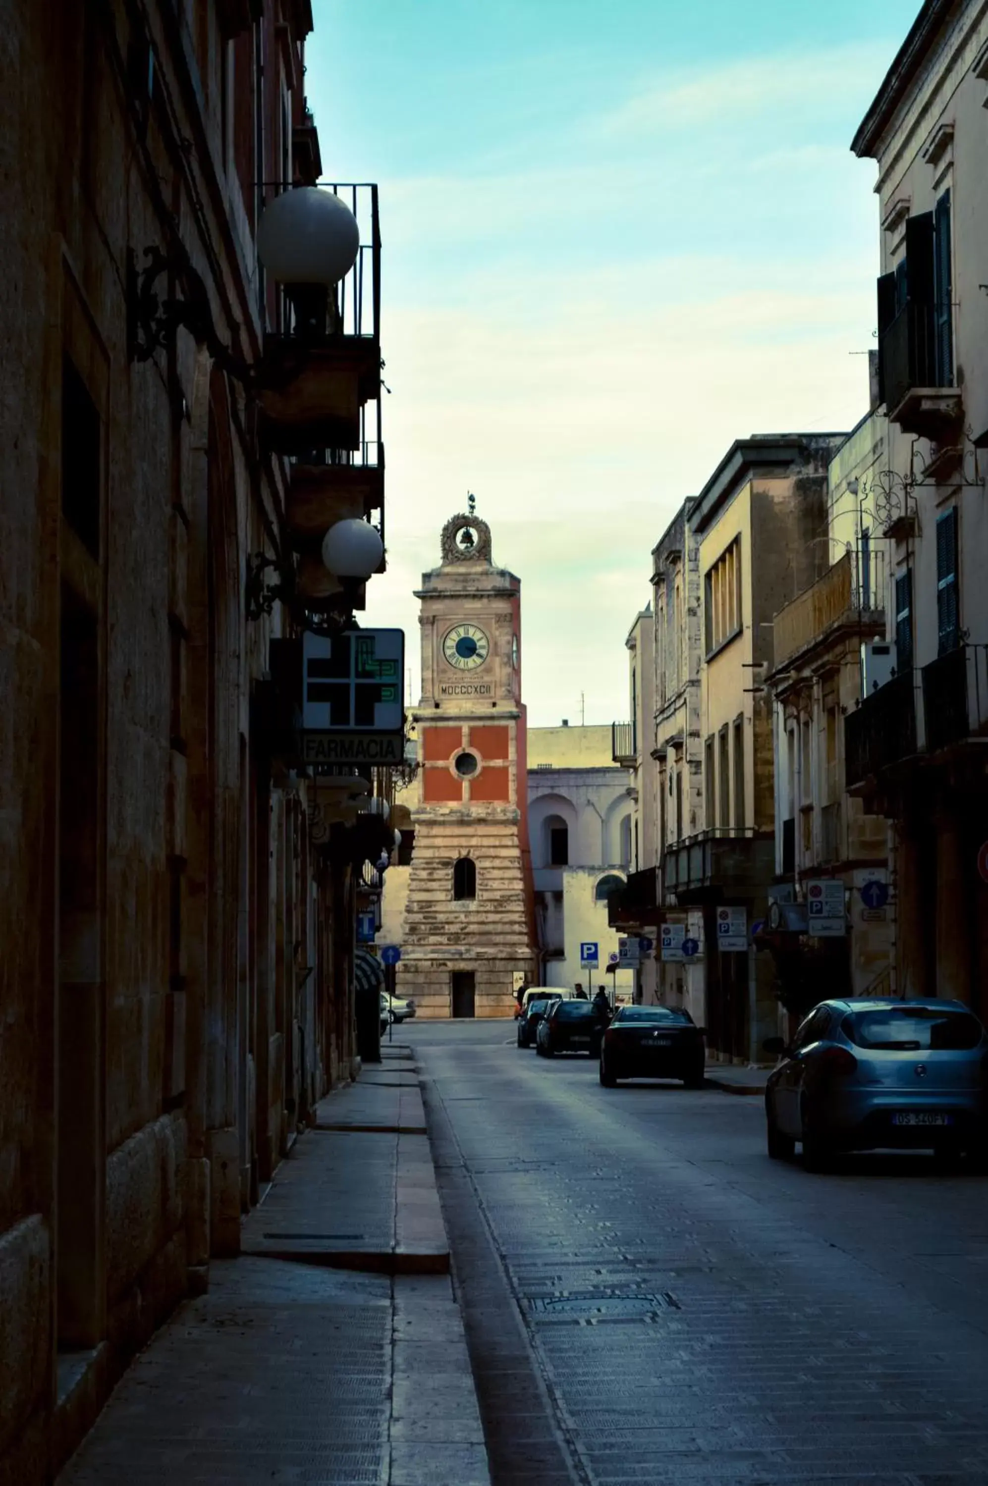
<path fill-rule="evenodd" d="M 259 16 L 259 19 L 254 19 Z M 49 1480 L 327 1083 L 346 850 L 267 746 L 248 554 L 288 461 L 217 363 L 282 305 L 259 183 L 315 180 L 308 0 L 4 9 L 0 1479 Z M 215 340 L 149 339 L 201 285 Z M 181 296 L 180 296 L 181 297 Z M 157 331 L 155 331 L 156 334 Z"/>

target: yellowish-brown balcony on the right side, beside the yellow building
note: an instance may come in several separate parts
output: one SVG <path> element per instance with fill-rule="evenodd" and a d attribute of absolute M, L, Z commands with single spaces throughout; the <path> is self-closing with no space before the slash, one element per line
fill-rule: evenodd
<path fill-rule="evenodd" d="M 884 635 L 885 554 L 845 553 L 822 578 L 780 609 L 774 620 L 774 666 L 836 635 L 844 626 Z"/>

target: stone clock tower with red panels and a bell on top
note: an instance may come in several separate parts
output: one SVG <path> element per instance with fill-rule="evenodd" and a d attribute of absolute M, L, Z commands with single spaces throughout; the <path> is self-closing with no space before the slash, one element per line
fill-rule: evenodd
<path fill-rule="evenodd" d="M 472 505 L 472 501 L 471 501 Z M 400 994 L 420 1016 L 504 1016 L 536 984 L 521 703 L 521 584 L 472 511 L 416 593 L 422 700 Z"/>

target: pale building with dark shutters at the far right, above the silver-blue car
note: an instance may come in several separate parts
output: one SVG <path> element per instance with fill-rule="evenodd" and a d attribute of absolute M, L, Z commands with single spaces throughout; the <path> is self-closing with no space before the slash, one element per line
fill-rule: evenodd
<path fill-rule="evenodd" d="M 888 822 L 899 996 L 988 1012 L 988 10 L 926 0 L 857 129 L 877 163 L 883 458 L 894 670 L 844 721 L 851 796 Z"/>

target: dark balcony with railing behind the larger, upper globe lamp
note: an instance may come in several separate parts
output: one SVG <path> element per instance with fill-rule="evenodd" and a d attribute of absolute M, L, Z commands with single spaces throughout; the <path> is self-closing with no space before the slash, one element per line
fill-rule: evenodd
<path fill-rule="evenodd" d="M 327 186 L 361 232 L 357 262 L 330 290 L 325 334 L 264 337 L 270 369 L 257 389 L 260 434 L 276 453 L 360 450 L 361 409 L 380 395 L 380 224 L 376 186 Z"/>

